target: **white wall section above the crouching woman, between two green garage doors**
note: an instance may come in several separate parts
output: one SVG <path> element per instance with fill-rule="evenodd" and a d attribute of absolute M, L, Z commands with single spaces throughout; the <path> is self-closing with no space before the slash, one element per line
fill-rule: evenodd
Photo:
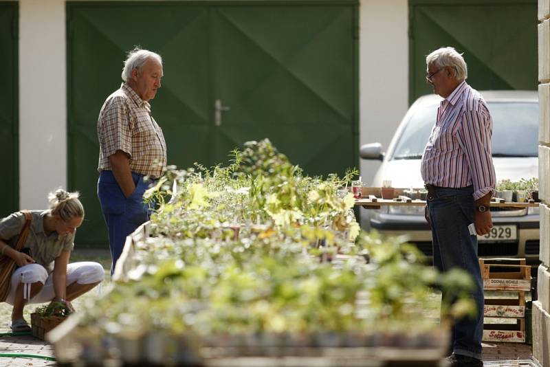
<path fill-rule="evenodd" d="M 19 207 L 67 187 L 65 1 L 19 1 Z"/>

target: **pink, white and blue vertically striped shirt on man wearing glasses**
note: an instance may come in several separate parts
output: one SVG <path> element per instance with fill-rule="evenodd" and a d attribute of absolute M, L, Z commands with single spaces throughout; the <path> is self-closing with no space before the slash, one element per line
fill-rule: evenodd
<path fill-rule="evenodd" d="M 493 121 L 481 94 L 465 81 L 441 101 L 424 149 L 424 183 L 444 188 L 474 186 L 474 199 L 494 193 Z"/>

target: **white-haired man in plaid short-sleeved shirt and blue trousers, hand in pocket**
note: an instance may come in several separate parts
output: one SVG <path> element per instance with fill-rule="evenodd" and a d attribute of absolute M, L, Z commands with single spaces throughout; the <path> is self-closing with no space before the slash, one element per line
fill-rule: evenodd
<path fill-rule="evenodd" d="M 126 236 L 148 221 L 143 193 L 166 170 L 166 142 L 151 115 L 162 78 L 162 58 L 145 49 L 133 49 L 124 62 L 120 89 L 105 100 L 98 118 L 100 144 L 98 197 L 111 248 L 111 274 Z"/>

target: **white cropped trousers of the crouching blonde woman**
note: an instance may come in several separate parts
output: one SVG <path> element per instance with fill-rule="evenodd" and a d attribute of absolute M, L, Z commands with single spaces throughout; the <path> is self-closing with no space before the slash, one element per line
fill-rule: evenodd
<path fill-rule="evenodd" d="M 101 282 L 104 277 L 103 267 L 91 261 L 83 261 L 80 263 L 72 263 L 67 265 L 67 287 L 77 282 L 80 285 L 93 284 Z M 32 283 L 41 282 L 44 287 L 34 296 L 29 303 L 44 303 L 50 302 L 56 296 L 54 291 L 54 273 L 47 274 L 46 269 L 39 264 L 29 264 L 19 269 L 16 269 L 12 274 L 12 284 L 10 286 L 10 294 L 5 299 L 5 302 L 13 304 L 15 291 L 21 283 L 30 285 Z M 30 289 L 29 289 L 30 291 Z"/>

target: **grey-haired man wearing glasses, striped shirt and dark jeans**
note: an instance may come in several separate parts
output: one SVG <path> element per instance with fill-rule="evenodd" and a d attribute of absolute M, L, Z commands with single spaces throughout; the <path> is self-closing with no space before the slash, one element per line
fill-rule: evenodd
<path fill-rule="evenodd" d="M 463 269 L 476 285 L 472 292 L 476 318 L 454 324 L 448 361 L 453 367 L 483 366 L 483 281 L 476 233 L 487 234 L 492 227 L 493 122 L 483 97 L 465 82 L 467 66 L 454 48 L 443 47 L 426 56 L 426 67 L 426 82 L 444 98 L 421 162 L 428 189 L 425 215 L 432 227 L 434 265 L 439 271 Z"/>

